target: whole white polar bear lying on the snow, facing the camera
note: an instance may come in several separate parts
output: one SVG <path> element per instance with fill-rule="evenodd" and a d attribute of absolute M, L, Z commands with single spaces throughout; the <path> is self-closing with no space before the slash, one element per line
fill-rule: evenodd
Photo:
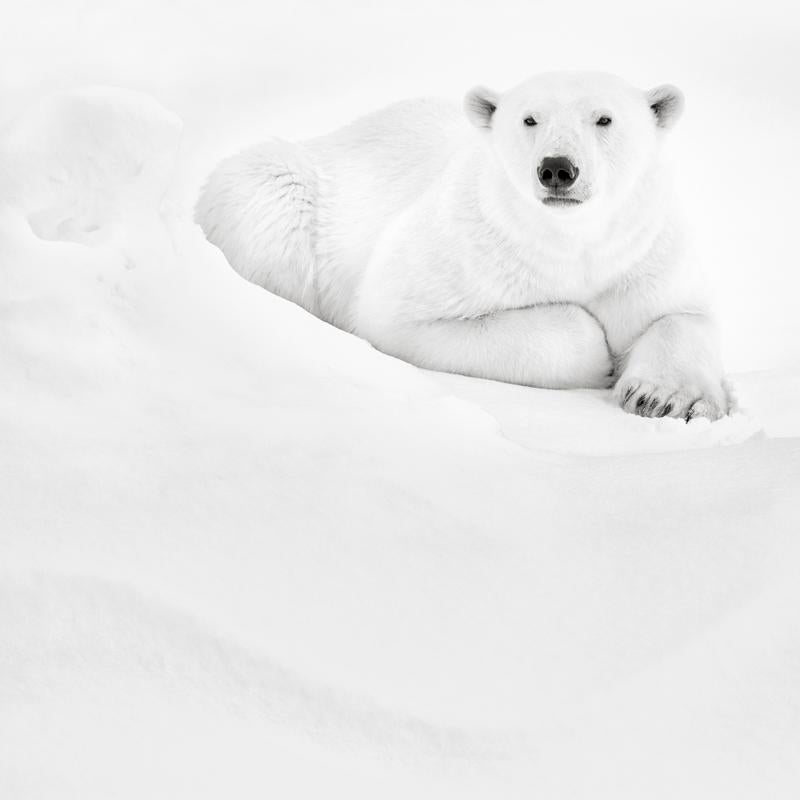
<path fill-rule="evenodd" d="M 196 218 L 242 276 L 412 364 L 716 419 L 717 336 L 663 148 L 683 106 L 594 72 L 400 102 L 227 159 Z"/>

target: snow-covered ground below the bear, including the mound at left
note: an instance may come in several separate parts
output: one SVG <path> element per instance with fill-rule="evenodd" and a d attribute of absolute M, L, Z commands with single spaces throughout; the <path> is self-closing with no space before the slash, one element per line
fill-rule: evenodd
<path fill-rule="evenodd" d="M 0 134 L 3 794 L 796 797 L 800 371 L 417 370 L 233 273 L 185 127 Z"/>

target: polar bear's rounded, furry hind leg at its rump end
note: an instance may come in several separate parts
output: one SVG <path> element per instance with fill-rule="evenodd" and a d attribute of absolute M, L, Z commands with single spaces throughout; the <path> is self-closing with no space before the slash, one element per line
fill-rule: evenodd
<path fill-rule="evenodd" d="M 315 311 L 317 175 L 301 145 L 271 140 L 223 161 L 195 219 L 244 278 Z"/>

